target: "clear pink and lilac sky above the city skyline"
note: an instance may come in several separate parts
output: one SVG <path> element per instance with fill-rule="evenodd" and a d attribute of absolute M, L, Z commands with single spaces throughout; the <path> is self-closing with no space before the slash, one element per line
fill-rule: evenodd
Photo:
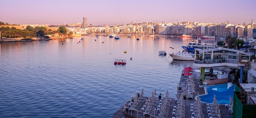
<path fill-rule="evenodd" d="M 256 0 L 0 0 L 9 24 L 113 25 L 130 22 L 256 22 Z"/>

